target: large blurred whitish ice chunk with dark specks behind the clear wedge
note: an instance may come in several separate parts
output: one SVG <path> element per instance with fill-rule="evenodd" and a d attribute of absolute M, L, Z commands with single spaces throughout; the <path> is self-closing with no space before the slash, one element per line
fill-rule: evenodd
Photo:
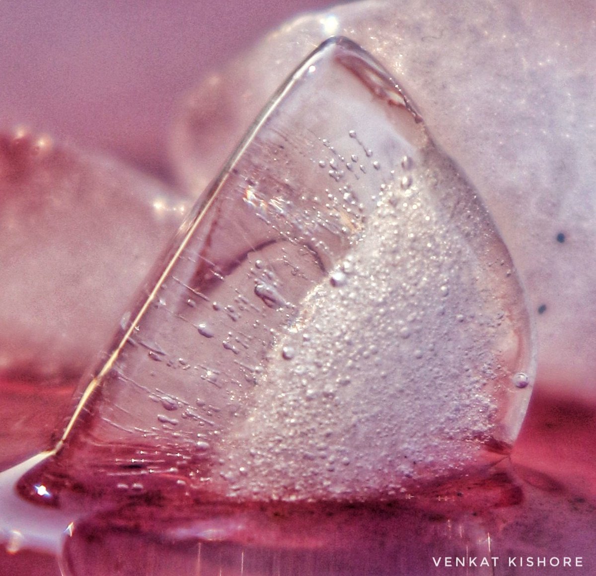
<path fill-rule="evenodd" d="M 212 178 L 288 66 L 333 34 L 403 81 L 493 214 L 529 291 L 541 387 L 596 400 L 591 4 L 355 2 L 298 18 L 188 96 L 172 144 L 188 188 Z"/>

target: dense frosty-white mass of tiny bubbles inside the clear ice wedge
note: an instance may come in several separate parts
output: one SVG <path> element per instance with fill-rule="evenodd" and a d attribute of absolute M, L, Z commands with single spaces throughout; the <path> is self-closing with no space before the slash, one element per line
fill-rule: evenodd
<path fill-rule="evenodd" d="M 495 422 L 486 382 L 499 371 L 491 338 L 502 317 L 483 312 L 468 279 L 476 256 L 433 200 L 442 187 L 470 189 L 451 164 L 418 166 L 402 155 L 392 165 L 355 130 L 349 138 L 357 150 L 340 152 L 322 139 L 327 155 L 313 164 L 339 183 L 347 212 L 362 199 L 342 167 L 364 160 L 361 176 L 367 167 L 378 173 L 374 210 L 349 253 L 300 303 L 292 329 L 276 335 L 250 426 L 222 465 L 234 496 L 399 491 L 421 463 L 439 472 L 464 465 L 474 456 L 458 438 L 489 434 Z M 255 293 L 279 304 L 262 280 Z M 513 380 L 520 388 L 529 382 L 522 373 Z M 250 481 L 238 480 L 240 467 Z"/>

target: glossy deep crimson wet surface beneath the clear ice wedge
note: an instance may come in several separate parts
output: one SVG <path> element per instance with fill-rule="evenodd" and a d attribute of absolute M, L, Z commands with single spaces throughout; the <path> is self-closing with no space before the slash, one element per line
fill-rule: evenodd
<path fill-rule="evenodd" d="M 300 505 L 203 499 L 189 507 L 166 491 L 169 501 L 161 505 L 146 494 L 129 494 L 95 512 L 77 506 L 72 535 L 64 537 L 61 550 L 9 545 L 0 556 L 0 573 L 448 574 L 452 568 L 434 562 L 458 558 L 468 574 L 491 574 L 478 564 L 496 557 L 495 574 L 523 574 L 529 568 L 520 568 L 515 558 L 549 562 L 570 553 L 589 567 L 596 562 L 589 503 L 596 491 L 595 424 L 594 408 L 535 397 L 513 465 L 505 457 L 484 475 L 412 486 L 396 499 Z M 130 453 L 114 449 L 113 456 L 117 462 Z M 96 493 L 81 490 L 79 504 L 108 488 L 101 476 L 93 477 Z M 38 515 L 39 503 L 24 510 Z M 67 525 L 63 519 L 56 528 Z M 510 558 L 513 568 L 506 563 Z M 559 573 L 550 565 L 544 569 Z"/>

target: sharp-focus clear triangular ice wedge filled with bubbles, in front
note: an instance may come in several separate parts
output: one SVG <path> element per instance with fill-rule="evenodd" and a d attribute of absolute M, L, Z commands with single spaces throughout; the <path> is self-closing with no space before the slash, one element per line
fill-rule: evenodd
<path fill-rule="evenodd" d="M 155 282 L 30 497 L 392 499 L 519 431 L 532 338 L 507 249 L 346 39 L 274 96 Z"/>

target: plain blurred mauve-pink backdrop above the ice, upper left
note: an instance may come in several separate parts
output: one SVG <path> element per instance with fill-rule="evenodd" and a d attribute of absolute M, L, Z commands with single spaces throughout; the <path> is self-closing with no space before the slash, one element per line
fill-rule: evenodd
<path fill-rule="evenodd" d="M 176 97 L 294 14 L 328 0 L 5 1 L 1 127 L 24 124 L 167 175 Z"/>

